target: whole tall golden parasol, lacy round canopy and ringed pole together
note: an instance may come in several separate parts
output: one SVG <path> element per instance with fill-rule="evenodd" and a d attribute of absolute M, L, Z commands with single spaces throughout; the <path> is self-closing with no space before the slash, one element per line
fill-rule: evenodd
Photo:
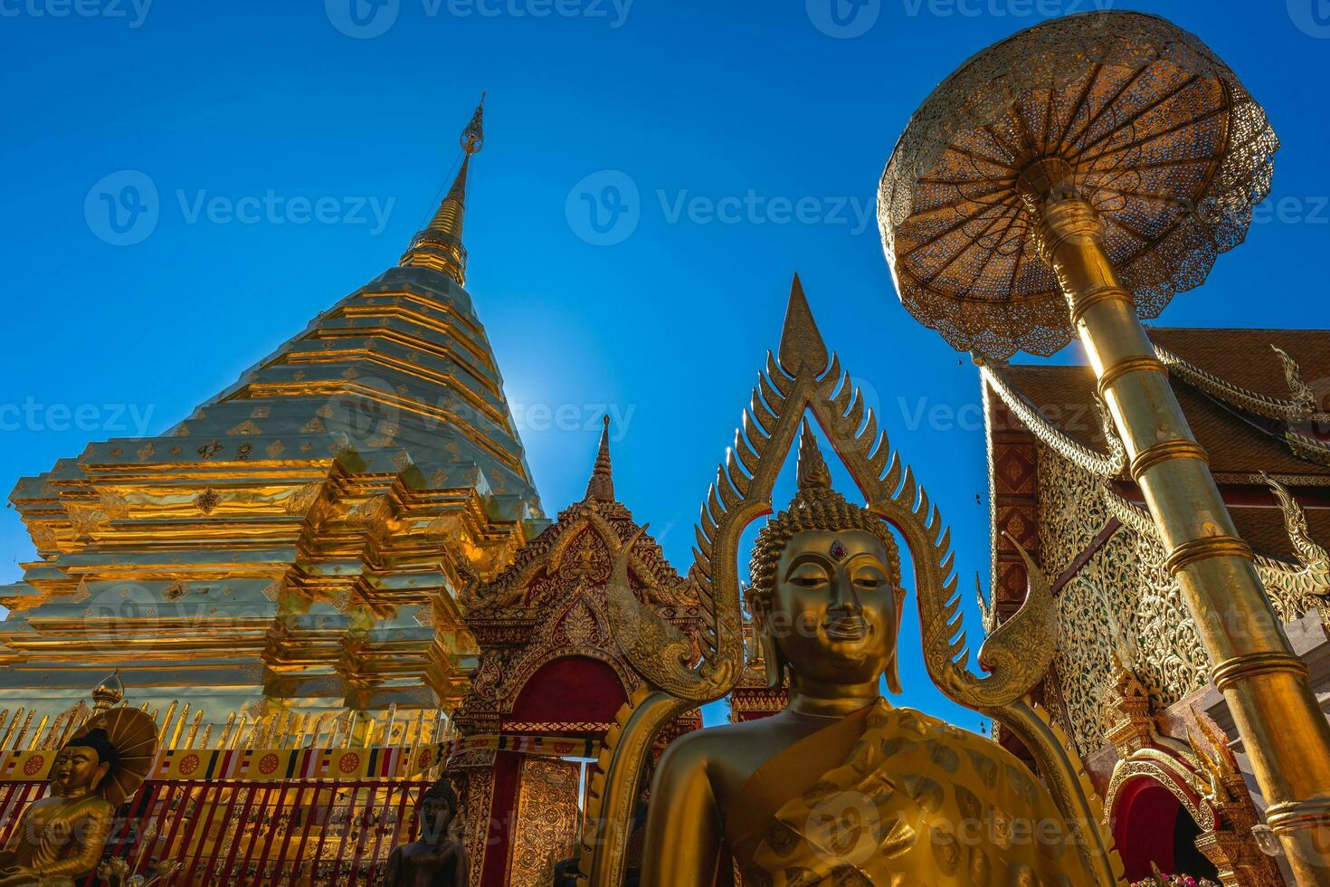
<path fill-rule="evenodd" d="M 906 309 L 978 359 L 1079 336 L 1298 883 L 1330 883 L 1330 727 L 1141 326 L 1238 245 L 1278 148 L 1196 36 L 1136 12 L 990 47 L 910 120 L 878 219 Z"/>

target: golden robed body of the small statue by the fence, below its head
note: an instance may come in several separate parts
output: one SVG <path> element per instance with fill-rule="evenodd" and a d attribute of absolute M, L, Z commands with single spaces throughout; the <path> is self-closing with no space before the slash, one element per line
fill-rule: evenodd
<path fill-rule="evenodd" d="M 36 801 L 19 818 L 5 856 L 36 871 L 33 884 L 72 886 L 101 860 L 114 813 L 98 795 Z M 4 874 L 0 870 L 0 879 Z"/>

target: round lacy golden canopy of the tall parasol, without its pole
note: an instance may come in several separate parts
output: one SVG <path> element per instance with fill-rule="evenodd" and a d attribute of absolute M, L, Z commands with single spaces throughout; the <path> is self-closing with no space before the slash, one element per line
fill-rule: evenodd
<path fill-rule="evenodd" d="M 882 176 L 878 222 L 906 309 L 959 351 L 1071 342 L 1016 194 L 1063 157 L 1141 317 L 1198 286 L 1269 193 L 1265 112 L 1197 37 L 1150 15 L 1053 19 L 972 57 L 923 102 Z"/>

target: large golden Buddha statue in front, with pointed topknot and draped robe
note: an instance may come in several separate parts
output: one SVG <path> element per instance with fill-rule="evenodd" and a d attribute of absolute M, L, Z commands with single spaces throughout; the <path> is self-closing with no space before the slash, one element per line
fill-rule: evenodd
<path fill-rule="evenodd" d="M 798 495 L 758 533 L 747 608 L 763 719 L 666 749 L 644 887 L 1092 884 L 1051 795 L 998 743 L 888 705 L 904 592 L 895 539 L 831 489 L 805 423 Z"/>

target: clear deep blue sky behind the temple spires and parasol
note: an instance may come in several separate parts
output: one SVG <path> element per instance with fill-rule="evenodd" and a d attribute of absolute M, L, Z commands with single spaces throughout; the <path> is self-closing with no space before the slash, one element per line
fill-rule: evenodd
<path fill-rule="evenodd" d="M 356 1 L 0 0 L 5 491 L 89 440 L 161 431 L 395 263 L 487 89 L 468 289 L 520 412 L 626 418 L 620 497 L 686 568 L 798 270 L 959 568 L 987 582 L 976 372 L 896 302 L 875 184 L 956 64 L 1092 3 L 841 0 L 838 21 L 830 0 Z M 1113 5 L 1198 33 L 1283 140 L 1281 211 L 1165 320 L 1325 326 L 1321 263 L 1299 259 L 1330 245 L 1326 0 Z M 98 194 L 144 177 L 156 227 L 117 233 Z M 593 225 L 580 194 L 606 185 L 628 214 L 601 206 Z M 291 198 L 323 198 L 322 219 Z M 541 416 L 519 419 L 553 512 L 581 495 L 595 434 Z M 33 556 L 12 511 L 0 551 L 0 581 Z M 907 622 L 906 701 L 978 725 L 927 685 Z"/>

